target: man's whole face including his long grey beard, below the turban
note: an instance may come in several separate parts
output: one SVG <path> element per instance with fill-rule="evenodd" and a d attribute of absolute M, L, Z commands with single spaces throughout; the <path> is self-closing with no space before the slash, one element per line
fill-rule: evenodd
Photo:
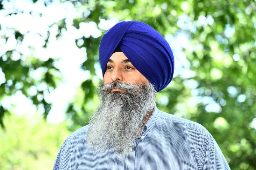
<path fill-rule="evenodd" d="M 86 141 L 102 153 L 125 156 L 153 111 L 154 86 L 122 52 L 116 52 L 106 66 L 103 84 L 96 88 L 100 104 L 90 120 Z M 108 149 L 112 151 L 108 152 Z"/>

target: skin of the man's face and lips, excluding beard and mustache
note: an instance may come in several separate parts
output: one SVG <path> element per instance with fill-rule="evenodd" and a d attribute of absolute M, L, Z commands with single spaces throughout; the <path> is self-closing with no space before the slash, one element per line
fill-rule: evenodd
<path fill-rule="evenodd" d="M 126 82 L 129 84 L 147 84 L 147 79 L 137 70 L 123 52 L 113 53 L 110 57 L 106 72 L 103 77 L 103 84 L 111 82 Z M 113 88 L 110 92 L 125 90 Z"/>

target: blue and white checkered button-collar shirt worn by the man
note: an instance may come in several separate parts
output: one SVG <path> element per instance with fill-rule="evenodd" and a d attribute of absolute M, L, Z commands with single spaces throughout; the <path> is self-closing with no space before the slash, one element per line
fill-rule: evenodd
<path fill-rule="evenodd" d="M 53 169 L 223 170 L 229 166 L 212 135 L 198 123 L 160 111 L 156 105 L 130 153 L 99 155 L 85 144 L 88 125 L 62 144 Z"/>

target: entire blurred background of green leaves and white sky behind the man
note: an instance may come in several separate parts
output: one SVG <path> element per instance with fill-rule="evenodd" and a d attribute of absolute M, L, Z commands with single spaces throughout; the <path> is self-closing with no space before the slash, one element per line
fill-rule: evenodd
<path fill-rule="evenodd" d="M 101 37 L 123 20 L 149 24 L 173 49 L 174 79 L 158 107 L 202 124 L 231 169 L 256 169 L 255 4 L 0 1 L 0 169 L 52 169 L 65 138 L 88 124 Z"/>

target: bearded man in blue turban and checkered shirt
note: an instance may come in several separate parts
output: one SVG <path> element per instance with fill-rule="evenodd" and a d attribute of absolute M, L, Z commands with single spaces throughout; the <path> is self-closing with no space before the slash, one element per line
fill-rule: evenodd
<path fill-rule="evenodd" d="M 230 169 L 201 125 L 160 111 L 157 92 L 172 80 L 174 57 L 163 36 L 120 22 L 99 48 L 101 103 L 90 124 L 63 143 L 53 169 Z"/>

